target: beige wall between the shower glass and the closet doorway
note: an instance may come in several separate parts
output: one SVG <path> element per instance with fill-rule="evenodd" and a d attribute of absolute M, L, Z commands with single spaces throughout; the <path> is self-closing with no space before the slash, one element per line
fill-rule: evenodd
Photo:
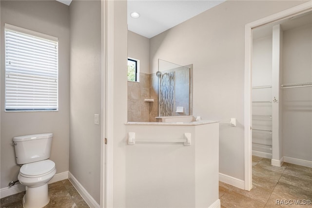
<path fill-rule="evenodd" d="M 220 125 L 219 171 L 244 179 L 245 24 L 305 1 L 226 1 L 150 40 L 151 71 L 157 59 L 193 63 L 193 114 Z"/>

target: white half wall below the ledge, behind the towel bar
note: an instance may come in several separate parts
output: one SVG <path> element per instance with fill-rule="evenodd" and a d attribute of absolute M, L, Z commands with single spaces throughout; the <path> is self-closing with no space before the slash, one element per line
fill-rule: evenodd
<path fill-rule="evenodd" d="M 136 139 L 191 145 L 136 143 L 126 146 L 127 208 L 204 208 L 218 200 L 219 124 L 127 125 Z"/>

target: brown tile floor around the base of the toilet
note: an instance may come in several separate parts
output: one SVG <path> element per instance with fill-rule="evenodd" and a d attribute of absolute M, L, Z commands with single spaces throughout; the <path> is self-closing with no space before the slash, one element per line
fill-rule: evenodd
<path fill-rule="evenodd" d="M 1 208 L 23 208 L 25 192 L 0 200 Z M 50 203 L 44 208 L 89 208 L 68 179 L 49 184 Z"/>

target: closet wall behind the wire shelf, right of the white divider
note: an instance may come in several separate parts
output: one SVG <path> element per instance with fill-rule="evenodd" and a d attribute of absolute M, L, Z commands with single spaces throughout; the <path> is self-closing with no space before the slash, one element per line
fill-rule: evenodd
<path fill-rule="evenodd" d="M 284 31 L 283 83 L 312 82 L 312 25 Z M 312 161 L 312 87 L 282 89 L 283 156 Z"/>

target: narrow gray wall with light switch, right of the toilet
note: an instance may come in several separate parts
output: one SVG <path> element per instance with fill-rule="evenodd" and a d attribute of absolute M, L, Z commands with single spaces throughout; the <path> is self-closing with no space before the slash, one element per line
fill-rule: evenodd
<path fill-rule="evenodd" d="M 69 171 L 100 201 L 101 25 L 99 0 L 70 5 Z M 100 121 L 103 119 L 100 118 Z"/>

